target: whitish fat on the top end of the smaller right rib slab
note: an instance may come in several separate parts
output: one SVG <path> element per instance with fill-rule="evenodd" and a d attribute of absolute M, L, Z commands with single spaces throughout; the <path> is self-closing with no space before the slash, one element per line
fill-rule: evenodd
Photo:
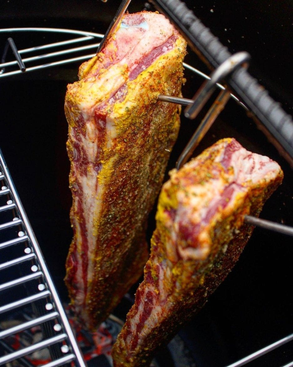
<path fill-rule="evenodd" d="M 223 154 L 221 151 L 215 161 L 220 162 L 222 159 Z M 197 162 L 194 161 L 194 166 L 196 165 Z M 191 166 L 192 162 L 190 164 Z M 190 185 L 188 187 L 188 196 L 186 196 L 184 190 L 178 191 L 177 199 L 180 204 L 177 208 L 175 221 L 168 226 L 171 231 L 173 243 L 176 243 L 178 238 L 179 222 L 186 224 L 186 226 L 190 226 L 190 223 L 194 225 L 198 223 L 205 224 L 203 219 L 206 217 L 209 209 L 216 206 L 219 202 L 224 189 L 228 185 L 234 190 L 227 202 L 227 210 L 234 206 L 236 197 L 246 190 L 245 185 L 247 183 L 249 185 L 256 184 L 264 177 L 269 181 L 274 179 L 279 171 L 279 165 L 276 162 L 266 156 L 248 152 L 243 147 L 232 153 L 231 166 L 233 167 L 234 174 L 229 176 L 229 182 L 219 177 L 210 179 L 204 185 Z M 209 243 L 207 233 L 204 230 L 201 230 L 198 240 L 199 247 L 196 248 L 182 248 L 180 244 L 177 244 L 177 250 L 183 259 L 204 259 L 207 257 Z"/>

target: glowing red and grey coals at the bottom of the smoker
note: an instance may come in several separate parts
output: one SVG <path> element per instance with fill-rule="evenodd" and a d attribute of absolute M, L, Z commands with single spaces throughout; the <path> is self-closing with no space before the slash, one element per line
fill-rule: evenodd
<path fill-rule="evenodd" d="M 65 305 L 68 320 L 75 333 L 79 348 L 84 356 L 88 367 L 111 367 L 111 348 L 122 328 L 123 322 L 117 317 L 110 315 L 110 317 L 101 324 L 101 326 L 94 332 L 90 333 L 87 330 L 82 329 L 80 324 L 77 324 L 73 313 L 70 311 L 70 307 Z M 35 319 L 36 313 L 30 309 L 22 309 L 22 312 L 14 313 L 7 320 L 0 321 L 0 331 L 22 324 L 26 321 Z M 11 335 L 10 337 L 2 339 L 8 346 L 8 352 L 25 348 L 26 346 L 33 345 L 44 339 L 63 333 L 63 329 L 60 326 L 58 319 L 49 321 L 44 324 L 31 327 L 24 330 L 21 333 Z M 64 342 L 65 343 L 65 342 Z M 55 348 L 55 349 L 54 349 Z M 49 348 L 43 348 L 36 352 L 23 357 L 24 363 L 21 360 L 12 361 L 7 363 L 6 367 L 41 367 L 49 363 L 52 359 L 63 355 L 60 350 L 62 343 L 58 343 Z M 9 351 L 9 349 L 12 349 Z M 70 350 L 69 350 L 70 352 Z M 55 357 L 52 357 L 55 356 Z M 167 348 L 160 352 L 160 355 L 152 361 L 151 367 L 165 366 L 168 361 L 168 366 L 172 367 L 196 367 L 194 360 L 190 356 L 189 350 L 186 348 L 185 343 L 177 335 L 168 345 Z M 71 364 L 72 365 L 72 364 Z M 70 364 L 68 364 L 70 366 Z"/>

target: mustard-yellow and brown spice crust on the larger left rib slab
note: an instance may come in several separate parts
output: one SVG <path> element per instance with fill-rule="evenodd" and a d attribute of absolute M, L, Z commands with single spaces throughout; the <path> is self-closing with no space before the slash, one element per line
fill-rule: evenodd
<path fill-rule="evenodd" d="M 179 129 L 179 108 L 171 103 L 157 101 L 159 94 L 181 94 L 183 78 L 182 60 L 185 56 L 185 41 L 180 37 L 181 49 L 177 55 L 161 58 L 155 69 L 147 70 L 133 81 L 125 84 L 127 98 L 137 103 L 123 113 L 113 112 L 112 103 L 105 103 L 99 108 L 99 116 L 105 119 L 110 113 L 115 120 L 117 137 L 111 148 L 105 145 L 105 139 L 97 141 L 100 146 L 99 161 L 103 168 L 97 181 L 103 183 L 103 194 L 99 218 L 96 219 L 96 243 L 94 254 L 94 274 L 86 294 L 85 312 L 89 321 L 86 327 L 94 330 L 107 318 L 112 309 L 119 303 L 129 287 L 142 275 L 147 261 L 147 243 L 145 229 L 148 214 L 162 185 L 164 171 L 177 138 Z M 99 62 L 94 58 L 94 62 Z M 89 69 L 92 70 L 92 61 Z M 82 66 L 81 75 L 85 76 L 86 66 Z M 78 83 L 82 83 L 81 80 Z M 66 117 L 69 129 L 76 129 L 84 134 L 83 119 L 74 119 L 76 110 L 75 86 L 68 86 L 66 94 Z M 117 103 L 121 106 L 123 102 Z M 121 107 L 122 108 L 122 107 Z M 79 115 L 78 115 L 79 116 Z M 73 165 L 74 141 L 67 142 L 68 156 L 71 160 L 70 188 L 73 198 L 80 195 L 76 189 Z M 80 167 L 86 172 L 88 162 Z M 97 163 L 97 165 L 99 162 Z M 75 308 L 78 289 L 76 284 L 75 254 L 85 257 L 78 249 L 74 223 L 83 226 L 84 219 L 77 206 L 71 208 L 70 217 L 73 224 L 74 238 L 66 262 L 65 282 Z M 86 251 L 85 251 L 86 252 Z M 82 315 L 77 312 L 82 322 Z"/>

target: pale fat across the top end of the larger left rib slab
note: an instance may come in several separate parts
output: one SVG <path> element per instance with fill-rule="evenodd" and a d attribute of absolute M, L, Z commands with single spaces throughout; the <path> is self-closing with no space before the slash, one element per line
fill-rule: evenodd
<path fill-rule="evenodd" d="M 163 15 L 144 13 L 144 18 L 143 27 L 123 26 L 116 32 L 116 58 L 119 61 L 99 72 L 97 76 L 86 79 L 86 87 L 83 86 L 82 95 L 78 99 L 78 109 L 85 121 L 89 119 L 93 109 L 103 105 L 125 83 L 143 55 L 166 42 L 174 33 L 173 26 Z M 166 47 L 163 54 L 169 50 L 170 47 Z"/>

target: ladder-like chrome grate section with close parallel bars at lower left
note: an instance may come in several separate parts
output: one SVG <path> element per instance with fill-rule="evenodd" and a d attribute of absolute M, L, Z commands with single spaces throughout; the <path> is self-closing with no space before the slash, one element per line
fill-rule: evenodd
<path fill-rule="evenodd" d="M 27 366 L 27 355 L 47 348 L 51 361 L 46 366 L 71 363 L 86 367 L 1 150 L 0 188 L 0 339 L 7 353 L 0 354 L 0 366 L 16 359 L 19 366 Z M 15 267 L 13 272 L 8 271 L 11 267 Z M 15 276 L 14 270 L 19 275 Z M 9 303 L 3 303 L 6 291 L 12 297 L 8 298 Z M 19 313 L 34 316 L 24 316 L 31 319 L 21 320 L 17 325 L 7 323 Z M 11 349 L 9 339 L 31 327 L 45 331 L 44 340 Z"/>

